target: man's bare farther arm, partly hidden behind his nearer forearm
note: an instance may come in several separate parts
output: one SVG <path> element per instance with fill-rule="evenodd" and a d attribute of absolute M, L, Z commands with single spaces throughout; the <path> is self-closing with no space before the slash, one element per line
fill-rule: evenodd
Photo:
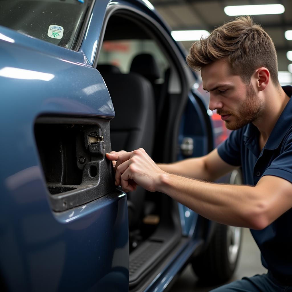
<path fill-rule="evenodd" d="M 170 164 L 157 164 L 157 166 L 167 173 L 207 181 L 214 181 L 237 168 L 223 161 L 217 149 L 202 157 L 189 158 Z"/>

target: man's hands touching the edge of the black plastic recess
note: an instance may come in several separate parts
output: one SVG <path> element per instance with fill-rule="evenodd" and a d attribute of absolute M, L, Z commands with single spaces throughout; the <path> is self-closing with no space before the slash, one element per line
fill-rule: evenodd
<path fill-rule="evenodd" d="M 115 165 L 116 185 L 121 185 L 126 191 L 135 190 L 137 185 L 150 192 L 157 190 L 160 175 L 164 171 L 154 163 L 144 149 L 140 148 L 121 155 L 110 154 L 107 154 L 108 159 L 117 159 Z"/>

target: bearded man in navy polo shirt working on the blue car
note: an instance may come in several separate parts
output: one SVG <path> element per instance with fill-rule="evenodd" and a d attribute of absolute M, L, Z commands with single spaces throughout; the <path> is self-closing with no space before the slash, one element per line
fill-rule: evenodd
<path fill-rule="evenodd" d="M 268 274 L 215 291 L 292 291 L 292 87 L 279 85 L 274 44 L 241 17 L 193 44 L 187 62 L 201 69 L 209 109 L 234 131 L 206 156 L 173 164 L 156 165 L 143 149 L 111 152 L 116 184 L 163 192 L 208 219 L 251 228 Z M 240 166 L 246 185 L 206 182 Z"/>

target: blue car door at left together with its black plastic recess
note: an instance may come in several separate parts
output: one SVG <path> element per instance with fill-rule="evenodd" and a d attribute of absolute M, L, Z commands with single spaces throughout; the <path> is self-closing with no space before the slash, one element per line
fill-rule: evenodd
<path fill-rule="evenodd" d="M 0 27 L 0 272 L 9 291 L 128 291 L 126 195 L 105 159 L 114 109 L 86 49 Z"/>

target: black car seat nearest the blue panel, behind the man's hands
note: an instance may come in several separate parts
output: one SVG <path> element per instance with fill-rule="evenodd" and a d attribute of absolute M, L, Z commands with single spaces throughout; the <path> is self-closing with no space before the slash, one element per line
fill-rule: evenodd
<path fill-rule="evenodd" d="M 133 151 L 140 147 L 151 156 L 155 134 L 155 105 L 152 85 L 135 73 L 116 73 L 117 67 L 98 65 L 115 110 L 110 123 L 112 150 Z M 145 190 L 138 187 L 128 194 L 130 230 L 138 227 L 143 217 Z"/>

